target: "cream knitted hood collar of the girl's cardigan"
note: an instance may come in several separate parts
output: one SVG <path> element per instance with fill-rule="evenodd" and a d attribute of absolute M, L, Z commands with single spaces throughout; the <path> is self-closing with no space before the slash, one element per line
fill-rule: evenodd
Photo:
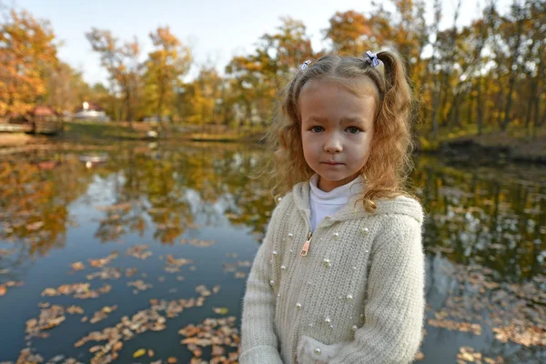
<path fill-rule="evenodd" d="M 302 211 L 310 218 L 310 201 L 309 201 L 309 182 L 299 182 L 292 188 L 294 202 L 298 210 Z M 338 212 L 332 215 L 328 220 L 323 221 L 324 225 L 331 225 L 335 221 L 346 221 L 355 218 L 379 216 L 379 215 L 407 215 L 415 218 L 420 224 L 423 222 L 423 210 L 420 203 L 410 197 L 399 196 L 396 198 L 381 198 L 376 202 L 377 208 L 375 212 L 370 213 L 363 207 L 357 205 L 355 201 L 358 199 L 356 194 L 349 197 L 349 203 L 341 207 Z"/>

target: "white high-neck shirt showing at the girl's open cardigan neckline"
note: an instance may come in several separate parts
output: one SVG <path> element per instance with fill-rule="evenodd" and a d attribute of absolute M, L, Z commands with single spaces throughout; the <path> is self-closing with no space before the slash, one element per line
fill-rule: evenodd
<path fill-rule="evenodd" d="M 311 205 L 311 230 L 315 230 L 320 224 L 320 221 L 324 217 L 332 216 L 338 212 L 339 208 L 344 207 L 349 202 L 349 197 L 359 192 L 358 186 L 352 188 L 354 185 L 363 184 L 364 178 L 362 176 L 356 177 L 349 183 L 332 189 L 329 192 L 321 190 L 318 186 L 319 175 L 314 174 L 309 181 L 309 201 Z"/>

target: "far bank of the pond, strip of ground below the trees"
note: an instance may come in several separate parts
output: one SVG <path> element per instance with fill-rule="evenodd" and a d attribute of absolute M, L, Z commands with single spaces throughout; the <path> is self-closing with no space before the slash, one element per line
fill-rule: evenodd
<path fill-rule="evenodd" d="M 216 126 L 217 127 L 217 126 Z M 9 154 L 22 149 L 47 148 L 61 145 L 107 145 L 119 142 L 147 141 L 174 144 L 226 143 L 263 144 L 264 134 L 258 129 L 234 130 L 225 126 L 207 126 L 198 130 L 196 126 L 168 127 L 159 129 L 159 137 L 149 137 L 147 132 L 153 126 L 143 123 L 96 124 L 67 123 L 64 131 L 56 136 L 30 135 L 25 133 L 0 133 L 0 154 Z M 445 138 L 432 145 L 427 139 L 420 139 L 417 154 L 438 156 L 454 163 L 504 163 L 524 162 L 546 164 L 546 127 L 528 136 L 524 130 L 491 132 L 480 136 L 467 135 Z"/>

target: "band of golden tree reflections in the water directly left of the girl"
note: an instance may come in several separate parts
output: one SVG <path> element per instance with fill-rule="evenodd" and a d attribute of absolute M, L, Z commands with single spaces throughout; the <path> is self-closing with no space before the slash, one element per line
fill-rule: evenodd
<path fill-rule="evenodd" d="M 96 237 L 112 241 L 128 232 L 142 235 L 147 215 L 155 228 L 154 238 L 172 243 L 187 228 L 196 227 L 197 216 L 204 217 L 207 225 L 215 224 L 221 217 L 215 207 L 218 202 L 227 202 L 231 224 L 244 224 L 263 234 L 273 199 L 263 179 L 248 177 L 263 152 L 239 149 L 192 145 L 112 153 L 108 164 L 96 169 L 112 181 L 114 194 L 112 205 L 104 207 Z"/>

